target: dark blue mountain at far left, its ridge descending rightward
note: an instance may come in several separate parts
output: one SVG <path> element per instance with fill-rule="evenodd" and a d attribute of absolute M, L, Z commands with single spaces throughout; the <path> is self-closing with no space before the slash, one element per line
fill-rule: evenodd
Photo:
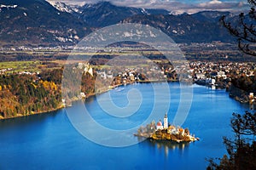
<path fill-rule="evenodd" d="M 74 44 L 90 32 L 83 20 L 44 0 L 2 0 L 0 44 Z"/>

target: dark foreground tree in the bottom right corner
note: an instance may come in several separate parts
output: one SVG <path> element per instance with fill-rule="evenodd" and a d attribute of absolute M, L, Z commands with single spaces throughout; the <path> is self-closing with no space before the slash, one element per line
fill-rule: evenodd
<path fill-rule="evenodd" d="M 217 164 L 210 159 L 208 170 L 216 169 L 256 169 L 256 112 L 246 111 L 244 115 L 233 113 L 231 127 L 235 133 L 235 139 L 224 137 L 229 156 L 224 155 Z"/>

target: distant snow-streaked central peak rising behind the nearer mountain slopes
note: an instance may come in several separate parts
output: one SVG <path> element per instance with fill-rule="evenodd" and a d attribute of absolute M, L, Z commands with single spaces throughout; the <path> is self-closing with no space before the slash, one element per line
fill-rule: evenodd
<path fill-rule="evenodd" d="M 87 3 L 82 7 L 68 6 L 65 3 L 52 3 L 52 5 L 62 12 L 77 13 L 79 19 L 93 27 L 113 25 L 137 14 L 170 14 L 166 9 L 119 7 L 109 2 Z"/>

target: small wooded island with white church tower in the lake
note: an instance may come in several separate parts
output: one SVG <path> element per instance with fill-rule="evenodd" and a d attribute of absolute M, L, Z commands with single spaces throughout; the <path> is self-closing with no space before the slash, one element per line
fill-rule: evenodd
<path fill-rule="evenodd" d="M 189 129 L 182 127 L 175 127 L 168 124 L 168 117 L 167 114 L 164 118 L 164 126 L 161 121 L 151 122 L 146 127 L 140 127 L 137 130 L 137 133 L 134 134 L 137 137 L 143 137 L 147 139 L 154 139 L 154 140 L 170 140 L 179 142 L 194 142 L 199 140 L 199 138 L 195 138 L 195 135 L 191 135 L 189 133 Z"/>

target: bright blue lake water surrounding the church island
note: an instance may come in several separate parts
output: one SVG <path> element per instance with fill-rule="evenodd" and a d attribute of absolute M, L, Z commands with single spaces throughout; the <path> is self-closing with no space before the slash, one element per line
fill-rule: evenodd
<path fill-rule="evenodd" d="M 232 113 L 243 113 L 248 108 L 230 99 L 224 90 L 188 86 L 193 88 L 193 99 L 182 127 L 189 127 L 201 140 L 190 144 L 140 142 L 133 136 L 137 127 L 151 119 L 163 120 L 165 111 L 171 123 L 177 113 L 180 86 L 177 82 L 168 85 L 169 94 L 162 83 L 155 83 L 154 87 L 150 83 L 137 83 L 91 97 L 84 103 L 77 102 L 67 111 L 1 121 L 0 169 L 206 169 L 206 158 L 226 153 L 222 138 L 232 137 Z M 108 98 L 113 103 L 108 103 Z M 117 116 L 117 107 L 116 111 L 125 107 L 120 113 L 123 117 Z M 94 128 L 93 123 L 84 121 L 84 108 L 97 124 L 122 133 L 117 137 Z M 133 114 L 125 116 L 129 111 Z M 84 132 L 76 130 L 79 121 Z M 102 145 L 124 142 L 128 144 L 125 147 Z"/>

